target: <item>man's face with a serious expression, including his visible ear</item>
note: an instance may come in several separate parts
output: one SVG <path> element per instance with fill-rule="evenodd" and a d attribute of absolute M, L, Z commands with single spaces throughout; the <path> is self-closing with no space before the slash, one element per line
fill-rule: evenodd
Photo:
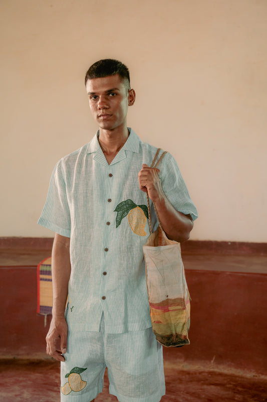
<path fill-rule="evenodd" d="M 126 125 L 128 106 L 135 100 L 133 89 L 118 74 L 87 81 L 86 90 L 92 115 L 98 126 L 105 130 Z"/>

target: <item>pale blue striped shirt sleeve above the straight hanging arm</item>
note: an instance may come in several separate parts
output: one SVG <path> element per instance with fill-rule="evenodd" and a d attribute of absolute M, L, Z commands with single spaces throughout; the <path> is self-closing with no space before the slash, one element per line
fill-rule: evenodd
<path fill-rule="evenodd" d="M 52 173 L 47 200 L 38 224 L 62 236 L 71 237 L 71 214 L 62 160 L 57 163 Z"/>

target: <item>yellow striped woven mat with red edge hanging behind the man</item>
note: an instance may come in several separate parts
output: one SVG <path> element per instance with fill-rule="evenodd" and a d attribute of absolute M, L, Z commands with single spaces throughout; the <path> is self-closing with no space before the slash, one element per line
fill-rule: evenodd
<path fill-rule="evenodd" d="M 52 315 L 53 289 L 51 257 L 45 258 L 37 266 L 37 313 Z"/>

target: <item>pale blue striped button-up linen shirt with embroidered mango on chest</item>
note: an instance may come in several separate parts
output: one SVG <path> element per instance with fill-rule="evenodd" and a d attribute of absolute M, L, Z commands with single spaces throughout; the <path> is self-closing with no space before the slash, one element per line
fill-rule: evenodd
<path fill-rule="evenodd" d="M 107 333 L 151 327 L 143 245 L 149 236 L 146 194 L 138 173 L 151 165 L 156 148 L 130 129 L 111 164 L 92 141 L 56 165 L 38 223 L 71 238 L 71 276 L 66 319 L 70 329 Z M 170 154 L 159 166 L 173 207 L 197 218 L 179 168 Z M 157 219 L 151 206 L 153 231 Z"/>

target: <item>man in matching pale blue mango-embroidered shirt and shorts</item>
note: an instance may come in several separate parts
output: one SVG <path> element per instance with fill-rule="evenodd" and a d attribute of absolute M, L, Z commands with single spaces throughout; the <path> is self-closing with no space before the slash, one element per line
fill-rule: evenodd
<path fill-rule="evenodd" d="M 162 346 L 151 328 L 142 249 L 146 192 L 170 239 L 189 238 L 197 211 L 173 157 L 151 169 L 156 148 L 127 127 L 135 101 L 128 68 L 100 60 L 85 85 L 99 130 L 57 163 L 39 219 L 56 232 L 47 352 L 61 361 L 62 401 L 93 401 L 108 367 L 120 402 L 159 402 Z M 154 210 L 152 220 L 155 229 Z"/>

